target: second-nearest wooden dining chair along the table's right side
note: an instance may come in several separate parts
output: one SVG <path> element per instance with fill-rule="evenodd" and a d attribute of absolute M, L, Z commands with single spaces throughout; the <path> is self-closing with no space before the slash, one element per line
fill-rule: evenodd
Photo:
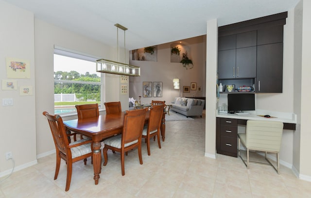
<path fill-rule="evenodd" d="M 150 115 L 148 124 L 144 125 L 144 128 L 142 130 L 142 138 L 145 139 L 145 142 L 147 143 L 147 151 L 148 155 L 150 155 L 150 138 L 155 136 L 157 137 L 157 144 L 159 146 L 159 149 L 161 149 L 161 143 L 160 143 L 160 126 L 163 116 L 163 108 L 165 105 L 157 105 L 150 108 Z"/>

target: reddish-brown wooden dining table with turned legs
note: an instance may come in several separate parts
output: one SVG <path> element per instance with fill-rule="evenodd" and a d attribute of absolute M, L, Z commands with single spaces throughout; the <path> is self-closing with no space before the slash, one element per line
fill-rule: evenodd
<path fill-rule="evenodd" d="M 165 139 L 165 112 L 162 116 L 161 136 Z M 148 123 L 150 111 L 146 112 L 145 123 Z M 104 138 L 112 137 L 122 133 L 124 112 L 87 119 L 75 119 L 64 121 L 67 129 L 75 133 L 91 137 L 93 148 L 93 168 L 95 185 L 98 184 L 99 174 L 102 170 L 101 141 Z"/>

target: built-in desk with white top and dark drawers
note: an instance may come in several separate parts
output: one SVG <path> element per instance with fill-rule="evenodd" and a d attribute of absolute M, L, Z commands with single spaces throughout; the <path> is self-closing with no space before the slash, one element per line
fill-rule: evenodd
<path fill-rule="evenodd" d="M 238 156 L 238 125 L 246 125 L 247 120 L 280 121 L 284 129 L 295 130 L 297 116 L 293 113 L 268 110 L 245 111 L 250 115 L 217 113 L 216 115 L 216 150 L 217 153 L 233 157 Z M 259 115 L 270 115 L 275 118 L 264 118 Z"/>

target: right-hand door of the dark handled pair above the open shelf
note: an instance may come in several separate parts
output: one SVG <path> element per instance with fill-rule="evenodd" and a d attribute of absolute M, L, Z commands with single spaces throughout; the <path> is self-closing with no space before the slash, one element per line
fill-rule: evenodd
<path fill-rule="evenodd" d="M 256 77 L 257 47 L 239 48 L 236 53 L 236 77 Z"/>

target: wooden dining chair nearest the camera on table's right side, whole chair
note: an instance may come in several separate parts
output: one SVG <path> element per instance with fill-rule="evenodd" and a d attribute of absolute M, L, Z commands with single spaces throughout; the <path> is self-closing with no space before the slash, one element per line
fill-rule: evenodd
<path fill-rule="evenodd" d="M 142 164 L 141 135 L 147 110 L 148 108 L 141 108 L 125 111 L 122 133 L 104 140 L 104 166 L 106 166 L 108 162 L 108 149 L 120 152 L 122 176 L 125 175 L 124 154 L 136 147 L 138 148 L 139 163 Z"/>

